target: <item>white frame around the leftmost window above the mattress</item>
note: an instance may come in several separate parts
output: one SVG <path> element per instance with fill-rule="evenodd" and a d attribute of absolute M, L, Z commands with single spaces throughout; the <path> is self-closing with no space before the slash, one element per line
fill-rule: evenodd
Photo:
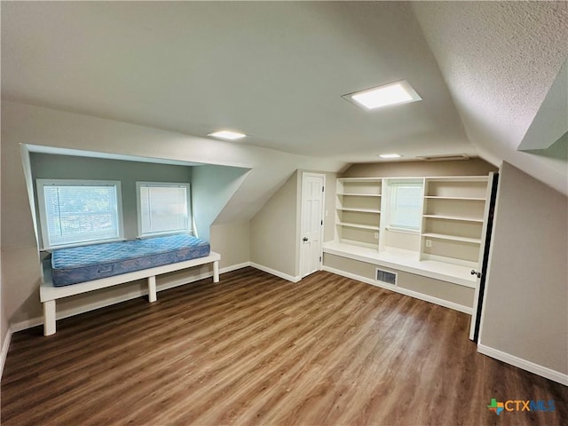
<path fill-rule="evenodd" d="M 81 241 L 69 244 L 50 244 L 49 231 L 47 225 L 47 214 L 45 209 L 45 196 L 43 188 L 45 186 L 114 186 L 116 193 L 116 224 L 118 236 L 116 238 L 105 238 L 91 241 Z M 36 179 L 37 203 L 39 210 L 40 228 L 42 236 L 42 249 L 49 250 L 55 248 L 88 246 L 100 242 L 112 242 L 124 240 L 124 226 L 122 224 L 122 188 L 118 180 L 81 180 L 81 179 Z"/>

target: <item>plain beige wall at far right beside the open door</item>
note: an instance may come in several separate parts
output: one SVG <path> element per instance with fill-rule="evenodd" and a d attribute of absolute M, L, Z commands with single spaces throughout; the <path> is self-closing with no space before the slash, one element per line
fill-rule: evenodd
<path fill-rule="evenodd" d="M 568 374 L 567 261 L 568 199 L 504 162 L 480 351 Z"/>

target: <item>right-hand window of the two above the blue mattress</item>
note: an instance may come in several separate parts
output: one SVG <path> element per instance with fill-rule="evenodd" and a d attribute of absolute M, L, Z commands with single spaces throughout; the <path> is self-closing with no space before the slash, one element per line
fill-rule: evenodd
<path fill-rule="evenodd" d="M 137 182 L 138 236 L 189 233 L 189 184 Z"/>

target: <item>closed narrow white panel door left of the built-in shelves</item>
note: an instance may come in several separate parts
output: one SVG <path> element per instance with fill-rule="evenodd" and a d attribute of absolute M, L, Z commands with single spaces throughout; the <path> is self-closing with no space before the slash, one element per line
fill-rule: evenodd
<path fill-rule="evenodd" d="M 325 175 L 305 172 L 302 174 L 302 241 L 300 241 L 302 278 L 319 271 L 321 267 L 325 185 Z"/>

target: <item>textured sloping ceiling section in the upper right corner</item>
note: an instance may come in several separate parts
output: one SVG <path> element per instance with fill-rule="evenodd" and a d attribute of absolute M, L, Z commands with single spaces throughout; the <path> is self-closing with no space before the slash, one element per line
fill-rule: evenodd
<path fill-rule="evenodd" d="M 479 154 L 568 193 L 568 3 L 414 2 L 413 10 Z M 533 144 L 555 149 L 519 151 L 529 129 Z"/>

